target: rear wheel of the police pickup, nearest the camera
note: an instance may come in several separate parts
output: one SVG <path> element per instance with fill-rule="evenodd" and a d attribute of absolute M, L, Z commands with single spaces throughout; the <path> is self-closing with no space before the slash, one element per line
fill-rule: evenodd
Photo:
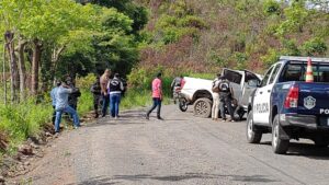
<path fill-rule="evenodd" d="M 272 148 L 273 152 L 277 154 L 284 154 L 288 150 L 290 140 L 283 140 L 280 138 L 282 128 L 279 123 L 279 115 L 275 115 L 272 125 Z"/>

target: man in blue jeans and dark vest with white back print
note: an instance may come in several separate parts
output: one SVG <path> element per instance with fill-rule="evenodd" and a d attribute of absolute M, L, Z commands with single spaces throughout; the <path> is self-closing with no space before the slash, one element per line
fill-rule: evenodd
<path fill-rule="evenodd" d="M 111 116 L 117 118 L 121 93 L 124 90 L 124 85 L 123 82 L 120 80 L 118 73 L 115 73 L 114 78 L 110 81 L 109 89 L 111 90 L 110 91 Z"/>

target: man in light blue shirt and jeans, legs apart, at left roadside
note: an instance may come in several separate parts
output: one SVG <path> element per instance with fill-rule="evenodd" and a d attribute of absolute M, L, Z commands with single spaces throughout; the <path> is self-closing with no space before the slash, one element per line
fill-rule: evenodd
<path fill-rule="evenodd" d="M 56 91 L 56 120 L 55 120 L 55 132 L 59 132 L 59 124 L 63 113 L 68 113 L 73 118 L 75 128 L 80 127 L 79 116 L 76 109 L 68 105 L 68 96 L 73 93 L 75 90 L 70 89 L 65 82 Z"/>

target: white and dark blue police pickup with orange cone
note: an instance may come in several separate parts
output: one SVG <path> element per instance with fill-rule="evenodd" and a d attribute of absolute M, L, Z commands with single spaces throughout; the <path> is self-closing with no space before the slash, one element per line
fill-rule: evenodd
<path fill-rule="evenodd" d="M 283 56 L 264 74 L 248 105 L 247 140 L 259 143 L 272 132 L 274 153 L 291 139 L 329 144 L 329 58 L 311 58 L 314 82 L 305 82 L 307 57 Z"/>

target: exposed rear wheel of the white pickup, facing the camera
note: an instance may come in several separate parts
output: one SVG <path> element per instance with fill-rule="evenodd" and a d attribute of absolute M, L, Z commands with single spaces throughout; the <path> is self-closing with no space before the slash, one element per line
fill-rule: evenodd
<path fill-rule="evenodd" d="M 194 108 L 193 113 L 196 117 L 211 117 L 212 114 L 212 101 L 203 97 L 203 99 L 197 99 L 194 102 Z"/>

